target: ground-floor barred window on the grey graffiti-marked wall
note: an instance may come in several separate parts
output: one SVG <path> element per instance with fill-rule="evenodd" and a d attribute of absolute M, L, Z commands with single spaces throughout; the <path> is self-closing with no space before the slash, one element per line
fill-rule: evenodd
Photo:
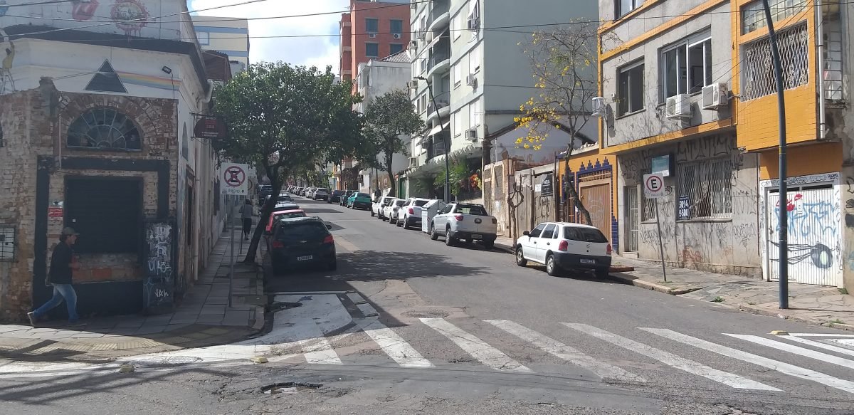
<path fill-rule="evenodd" d="M 729 159 L 676 166 L 678 196 L 688 197 L 691 218 L 727 218 L 733 213 L 732 172 Z"/>

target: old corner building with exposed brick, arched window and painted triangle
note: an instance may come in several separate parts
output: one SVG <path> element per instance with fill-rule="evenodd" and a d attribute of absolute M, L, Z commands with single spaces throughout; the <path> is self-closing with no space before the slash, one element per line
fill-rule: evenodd
<path fill-rule="evenodd" d="M 4 319 L 50 297 L 44 277 L 63 226 L 82 234 L 83 315 L 172 307 L 222 230 L 215 154 L 193 137 L 213 92 L 205 56 L 190 22 L 146 20 L 186 5 L 117 4 L 0 17 L 15 50 L 0 91 Z"/>

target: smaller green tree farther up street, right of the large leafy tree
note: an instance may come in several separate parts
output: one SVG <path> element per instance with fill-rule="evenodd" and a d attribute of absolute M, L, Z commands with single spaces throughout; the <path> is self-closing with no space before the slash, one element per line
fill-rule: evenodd
<path fill-rule="evenodd" d="M 365 136 L 383 155 L 378 168 L 389 174 L 391 195 L 395 194 L 395 172 L 391 166 L 393 157 L 395 154 L 409 153 L 401 136 L 412 136 L 423 130 L 424 121 L 415 114 L 409 94 L 401 89 L 377 96 L 365 109 Z"/>

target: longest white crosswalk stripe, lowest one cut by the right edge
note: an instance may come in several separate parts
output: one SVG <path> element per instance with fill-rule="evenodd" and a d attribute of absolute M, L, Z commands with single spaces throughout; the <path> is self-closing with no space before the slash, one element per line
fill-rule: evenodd
<path fill-rule="evenodd" d="M 839 379 L 838 377 L 832 377 L 819 371 L 813 371 L 796 365 L 789 365 L 787 363 L 783 363 L 774 359 L 768 359 L 762 356 L 758 356 L 756 354 L 750 354 L 734 348 L 728 348 L 726 346 L 721 346 L 712 342 L 706 342 L 705 340 L 701 340 L 692 336 L 686 336 L 681 333 L 676 333 L 676 331 L 673 330 L 645 328 L 640 328 L 640 330 L 646 330 L 650 333 L 657 334 L 658 336 L 668 338 L 675 342 L 681 342 L 689 346 L 702 348 L 713 353 L 722 354 L 723 356 L 742 360 L 753 365 L 767 367 L 771 370 L 779 371 L 789 376 L 800 377 L 802 379 L 815 381 L 831 388 L 844 390 L 845 392 L 854 394 L 854 382 Z"/>

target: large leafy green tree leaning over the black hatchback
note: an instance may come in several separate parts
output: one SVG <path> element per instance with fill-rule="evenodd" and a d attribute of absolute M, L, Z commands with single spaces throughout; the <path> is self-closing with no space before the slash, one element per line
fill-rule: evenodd
<path fill-rule="evenodd" d="M 353 111 L 360 96 L 350 82 L 336 82 L 331 67 L 292 67 L 281 62 L 249 66 L 216 91 L 215 114 L 228 124 L 229 137 L 213 141 L 220 155 L 258 165 L 278 195 L 285 178 L 313 166 L 328 149 L 352 154 L 363 141 L 362 120 Z M 255 252 L 275 207 L 271 197 L 260 209 L 245 262 Z"/>

